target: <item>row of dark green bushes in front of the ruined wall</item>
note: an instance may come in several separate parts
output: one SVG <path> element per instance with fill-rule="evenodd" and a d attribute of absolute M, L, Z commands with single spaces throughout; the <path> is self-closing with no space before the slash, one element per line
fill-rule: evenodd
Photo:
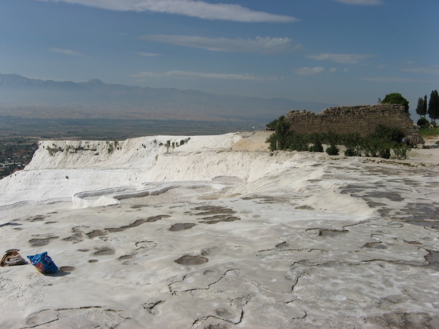
<path fill-rule="evenodd" d="M 271 151 L 309 151 L 323 152 L 323 145 L 328 145 L 325 152 L 328 155 L 338 155 L 338 145 L 346 147 L 346 156 L 371 156 L 385 159 L 406 159 L 411 149 L 405 141 L 404 133 L 399 129 L 379 125 L 373 134 L 361 137 L 358 133 L 337 134 L 308 133 L 298 134 L 289 128 L 284 116 L 271 121 L 267 127 L 275 132 L 267 138 Z"/>

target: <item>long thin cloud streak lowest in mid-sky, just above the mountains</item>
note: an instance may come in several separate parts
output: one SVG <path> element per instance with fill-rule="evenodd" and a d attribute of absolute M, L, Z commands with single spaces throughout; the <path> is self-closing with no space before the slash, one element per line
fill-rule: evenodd
<path fill-rule="evenodd" d="M 164 73 L 157 72 L 139 72 L 130 75 L 130 77 L 139 78 L 162 78 L 173 77 L 183 79 L 220 79 L 220 80 L 246 80 L 246 81 L 271 81 L 277 80 L 276 77 L 258 77 L 251 74 L 233 74 L 233 73 L 203 73 L 192 71 L 167 71 Z"/>

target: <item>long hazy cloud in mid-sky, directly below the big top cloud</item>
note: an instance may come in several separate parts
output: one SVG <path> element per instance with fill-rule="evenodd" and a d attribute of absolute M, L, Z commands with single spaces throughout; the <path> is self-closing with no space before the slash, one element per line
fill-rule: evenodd
<path fill-rule="evenodd" d="M 212 51 L 241 53 L 279 54 L 293 51 L 300 47 L 300 45 L 293 46 L 292 40 L 289 38 L 257 37 L 256 39 L 227 39 L 153 34 L 142 36 L 140 39 Z"/>

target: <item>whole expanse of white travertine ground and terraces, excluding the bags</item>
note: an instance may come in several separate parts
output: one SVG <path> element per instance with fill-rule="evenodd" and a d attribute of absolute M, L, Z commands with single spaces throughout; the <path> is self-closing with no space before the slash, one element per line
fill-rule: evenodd
<path fill-rule="evenodd" d="M 268 135 L 40 142 L 0 180 L 0 250 L 60 270 L 0 268 L 0 327 L 439 328 L 438 149 Z"/>

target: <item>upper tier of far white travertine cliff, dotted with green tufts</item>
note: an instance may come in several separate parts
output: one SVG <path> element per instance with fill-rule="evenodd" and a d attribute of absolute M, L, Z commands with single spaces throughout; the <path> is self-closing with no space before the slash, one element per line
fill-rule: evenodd
<path fill-rule="evenodd" d="M 242 138 L 240 134 L 210 136 L 149 136 L 118 141 L 51 141 L 39 143 L 39 149 L 26 170 L 67 168 L 149 168 L 156 155 L 169 151 L 226 150 Z M 186 143 L 166 148 L 166 141 Z M 109 147 L 112 150 L 109 151 Z M 50 155 L 52 150 L 53 156 Z M 57 152 L 60 150 L 60 152 Z"/>

